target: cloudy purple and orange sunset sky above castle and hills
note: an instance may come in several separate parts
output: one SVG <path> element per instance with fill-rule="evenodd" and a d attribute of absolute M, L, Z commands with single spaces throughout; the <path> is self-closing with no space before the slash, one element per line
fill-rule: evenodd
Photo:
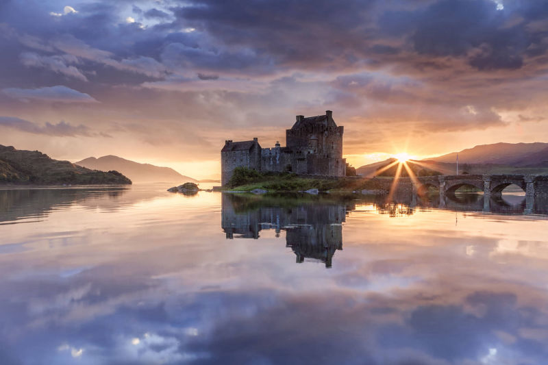
<path fill-rule="evenodd" d="M 353 166 L 548 140 L 545 0 L 0 0 L 0 144 L 219 177 L 333 110 Z"/>

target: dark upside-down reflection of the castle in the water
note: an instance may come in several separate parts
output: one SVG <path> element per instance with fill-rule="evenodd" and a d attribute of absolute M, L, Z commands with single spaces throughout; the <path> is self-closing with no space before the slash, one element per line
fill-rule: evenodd
<path fill-rule="evenodd" d="M 286 247 L 296 262 L 307 260 L 332 266 L 335 251 L 343 249 L 343 226 L 352 201 L 245 197 L 223 194 L 221 225 L 227 239 L 259 238 L 263 229 L 286 231 Z"/>

